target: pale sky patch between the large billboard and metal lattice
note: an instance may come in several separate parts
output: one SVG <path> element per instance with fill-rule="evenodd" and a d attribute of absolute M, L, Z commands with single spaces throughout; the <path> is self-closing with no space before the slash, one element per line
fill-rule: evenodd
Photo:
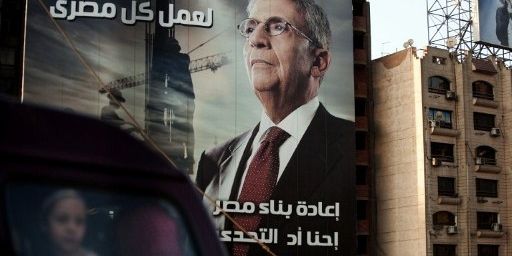
<path fill-rule="evenodd" d="M 426 0 L 368 0 L 372 59 L 403 49 L 409 39 L 423 48 L 428 43 Z"/>

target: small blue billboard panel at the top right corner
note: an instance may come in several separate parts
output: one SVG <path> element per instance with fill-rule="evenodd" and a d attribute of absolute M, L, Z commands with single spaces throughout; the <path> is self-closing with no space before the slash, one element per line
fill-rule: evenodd
<path fill-rule="evenodd" d="M 512 28 L 510 0 L 473 1 L 473 39 L 498 47 L 510 48 Z"/>

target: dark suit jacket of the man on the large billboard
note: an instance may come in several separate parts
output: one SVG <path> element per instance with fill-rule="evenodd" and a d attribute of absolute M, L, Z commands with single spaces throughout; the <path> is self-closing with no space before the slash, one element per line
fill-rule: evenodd
<path fill-rule="evenodd" d="M 246 152 L 235 177 L 230 200 L 236 200 L 240 180 L 250 155 L 250 146 L 258 126 L 252 131 Z M 233 146 L 248 131 L 228 142 L 213 148 L 201 156 L 199 161 L 197 185 L 204 191 L 212 179 L 222 171 L 231 159 Z M 298 201 L 308 204 L 322 202 L 333 204 L 340 202 L 340 220 L 323 217 L 264 215 L 260 227 L 277 228 L 278 245 L 269 244 L 277 255 L 355 255 L 355 144 L 354 123 L 336 118 L 320 104 L 290 162 L 279 179 L 271 200 L 297 205 Z M 286 246 L 287 234 L 296 234 L 298 227 L 302 231 L 320 231 L 320 234 L 339 234 L 338 250 L 332 247 L 307 246 L 303 237 L 302 246 Z M 226 220 L 226 229 L 232 230 Z M 303 235 L 304 236 L 304 235 Z M 228 249 L 230 245 L 227 244 Z M 257 244 L 252 244 L 249 255 L 267 255 Z"/>

